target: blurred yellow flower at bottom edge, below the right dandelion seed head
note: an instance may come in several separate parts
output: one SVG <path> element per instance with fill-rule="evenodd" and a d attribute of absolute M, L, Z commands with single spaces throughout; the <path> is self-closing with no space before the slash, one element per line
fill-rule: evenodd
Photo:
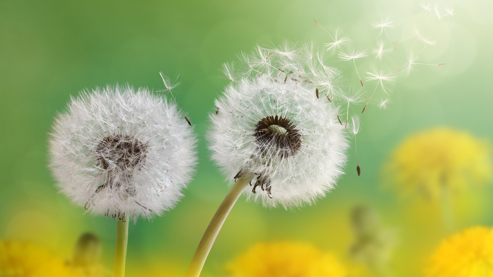
<path fill-rule="evenodd" d="M 347 277 L 332 253 L 303 242 L 257 243 L 226 266 L 228 277 Z"/>

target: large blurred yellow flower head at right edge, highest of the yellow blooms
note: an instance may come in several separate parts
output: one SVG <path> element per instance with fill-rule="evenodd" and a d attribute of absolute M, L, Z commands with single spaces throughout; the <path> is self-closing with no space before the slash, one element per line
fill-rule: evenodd
<path fill-rule="evenodd" d="M 392 153 L 385 176 L 405 193 L 436 199 L 443 189 L 462 191 L 492 179 L 490 146 L 448 128 L 424 131 L 404 140 Z"/>

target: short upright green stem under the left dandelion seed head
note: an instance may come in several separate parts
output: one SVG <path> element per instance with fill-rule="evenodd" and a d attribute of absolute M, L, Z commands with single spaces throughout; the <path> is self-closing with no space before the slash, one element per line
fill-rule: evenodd
<path fill-rule="evenodd" d="M 128 224 L 126 217 L 116 221 L 115 259 L 113 261 L 113 277 L 125 277 L 125 259 L 127 257 Z"/>

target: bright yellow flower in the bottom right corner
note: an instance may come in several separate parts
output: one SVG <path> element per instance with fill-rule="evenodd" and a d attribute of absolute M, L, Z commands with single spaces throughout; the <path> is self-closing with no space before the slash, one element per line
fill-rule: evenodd
<path fill-rule="evenodd" d="M 426 277 L 493 277 L 493 228 L 474 227 L 445 239 Z"/>

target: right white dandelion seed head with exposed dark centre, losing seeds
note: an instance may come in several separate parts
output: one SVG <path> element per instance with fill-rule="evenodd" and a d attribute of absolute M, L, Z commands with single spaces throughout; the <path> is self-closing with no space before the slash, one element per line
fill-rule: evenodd
<path fill-rule="evenodd" d="M 317 78 L 330 74 L 306 47 L 293 51 L 271 55 L 269 66 L 230 84 L 211 115 L 212 159 L 228 180 L 255 173 L 244 194 L 264 206 L 313 203 L 334 187 L 346 161 L 344 126 L 315 93 Z"/>

